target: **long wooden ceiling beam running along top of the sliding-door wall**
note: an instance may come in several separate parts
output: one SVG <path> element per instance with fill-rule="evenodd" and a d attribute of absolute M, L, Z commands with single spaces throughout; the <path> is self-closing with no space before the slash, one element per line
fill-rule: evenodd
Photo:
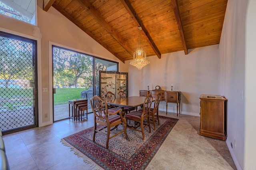
<path fill-rule="evenodd" d="M 93 38 L 96 42 L 98 42 L 100 45 L 102 45 L 104 48 L 106 48 L 110 53 L 112 53 L 114 56 L 116 56 L 118 59 L 120 59 L 120 61 L 122 61 L 124 63 L 124 59 L 118 55 L 117 53 L 115 53 L 110 47 L 108 47 L 108 45 L 104 44 L 102 41 L 100 41 L 96 36 L 94 36 L 91 32 L 89 32 L 88 30 L 86 30 L 84 28 L 84 26 L 82 24 L 80 24 L 78 21 L 75 20 L 75 18 L 73 18 L 72 16 L 70 16 L 70 14 L 68 14 L 68 12 L 66 12 L 65 10 L 63 10 L 62 8 L 60 8 L 59 6 L 56 5 L 52 5 L 56 10 L 58 10 L 61 14 L 63 14 L 66 18 L 68 18 L 71 22 L 73 22 L 74 24 L 76 24 L 76 26 L 78 26 L 81 30 L 83 30 L 86 34 L 88 34 L 91 38 Z"/>

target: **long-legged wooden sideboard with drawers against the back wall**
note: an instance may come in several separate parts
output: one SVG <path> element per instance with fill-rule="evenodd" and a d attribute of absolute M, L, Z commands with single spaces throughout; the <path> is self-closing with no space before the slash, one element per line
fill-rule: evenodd
<path fill-rule="evenodd" d="M 181 92 L 180 91 L 165 91 L 165 90 L 140 90 L 140 96 L 146 97 L 149 93 L 152 94 L 153 97 L 156 97 L 156 95 L 160 92 L 161 99 L 160 101 L 166 102 L 166 115 L 167 115 L 167 108 L 168 103 L 176 103 L 177 104 L 177 116 L 178 116 L 178 110 L 180 114 L 180 101 L 181 101 Z"/>

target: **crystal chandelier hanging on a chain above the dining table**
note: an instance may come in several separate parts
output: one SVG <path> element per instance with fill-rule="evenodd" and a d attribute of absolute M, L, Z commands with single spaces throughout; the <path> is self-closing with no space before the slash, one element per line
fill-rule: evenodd
<path fill-rule="evenodd" d="M 138 30 L 142 30 L 139 26 Z M 142 69 L 145 65 L 148 65 L 150 61 L 146 59 L 146 52 L 143 51 L 142 47 L 140 47 L 140 31 L 139 31 L 139 47 L 133 53 L 133 60 L 130 62 L 130 65 L 137 67 L 139 70 Z"/>

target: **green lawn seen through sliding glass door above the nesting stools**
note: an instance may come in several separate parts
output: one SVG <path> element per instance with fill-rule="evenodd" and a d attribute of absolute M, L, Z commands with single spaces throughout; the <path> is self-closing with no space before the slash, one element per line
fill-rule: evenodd
<path fill-rule="evenodd" d="M 56 88 L 54 105 L 68 104 L 68 100 L 80 99 L 80 93 L 87 89 L 82 88 Z"/>

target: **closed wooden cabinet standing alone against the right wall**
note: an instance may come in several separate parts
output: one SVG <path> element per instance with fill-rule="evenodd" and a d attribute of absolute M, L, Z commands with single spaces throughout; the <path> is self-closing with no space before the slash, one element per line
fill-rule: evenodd
<path fill-rule="evenodd" d="M 225 101 L 220 95 L 200 96 L 200 135 L 226 140 Z"/>

